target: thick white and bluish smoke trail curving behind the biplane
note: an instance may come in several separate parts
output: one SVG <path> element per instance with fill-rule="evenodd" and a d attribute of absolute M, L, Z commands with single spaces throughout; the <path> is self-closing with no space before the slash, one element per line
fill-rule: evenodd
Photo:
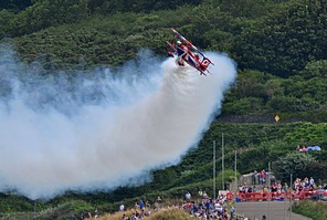
<path fill-rule="evenodd" d="M 2 54 L 0 190 L 34 199 L 109 189 L 143 184 L 151 169 L 178 163 L 236 76 L 228 56 L 208 55 L 215 65 L 207 77 L 168 59 L 127 65 L 119 78 L 98 70 L 72 80 L 28 74 Z"/>

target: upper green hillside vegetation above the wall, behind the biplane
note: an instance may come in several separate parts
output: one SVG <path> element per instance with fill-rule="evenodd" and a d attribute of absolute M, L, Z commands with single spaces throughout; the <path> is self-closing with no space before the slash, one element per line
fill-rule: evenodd
<path fill-rule="evenodd" d="M 40 62 L 49 73 L 118 66 L 144 48 L 162 56 L 175 27 L 199 48 L 236 61 L 238 86 L 226 95 L 223 117 L 326 122 L 323 1 L 126 2 L 39 0 L 20 12 L 3 9 L 0 38 L 12 41 L 24 63 Z"/>

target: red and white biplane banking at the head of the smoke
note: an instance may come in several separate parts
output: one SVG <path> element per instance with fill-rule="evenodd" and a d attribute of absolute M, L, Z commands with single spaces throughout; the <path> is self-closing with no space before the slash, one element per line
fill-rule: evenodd
<path fill-rule="evenodd" d="M 166 41 L 170 50 L 168 55 L 175 57 L 177 55 L 177 64 L 184 66 L 186 63 L 190 66 L 197 69 L 200 72 L 200 75 L 207 75 L 205 72 L 210 73 L 208 66 L 213 63 L 207 57 L 197 46 L 194 46 L 190 41 L 184 36 L 178 33 L 172 29 L 175 40 L 172 43 Z"/>

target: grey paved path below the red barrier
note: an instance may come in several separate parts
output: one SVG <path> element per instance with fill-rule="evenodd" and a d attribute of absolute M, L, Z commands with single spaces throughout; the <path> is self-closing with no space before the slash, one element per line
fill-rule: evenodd
<path fill-rule="evenodd" d="M 262 220 L 265 214 L 267 220 L 312 220 L 292 212 L 289 218 L 289 201 L 246 201 L 236 202 L 236 213 L 251 220 Z"/>

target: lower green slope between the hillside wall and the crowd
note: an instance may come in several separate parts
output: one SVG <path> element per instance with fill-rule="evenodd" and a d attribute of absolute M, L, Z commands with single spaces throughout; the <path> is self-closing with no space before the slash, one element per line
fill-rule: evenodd
<path fill-rule="evenodd" d="M 266 161 L 276 158 L 276 155 L 270 153 L 286 154 L 294 150 L 294 145 L 289 145 L 288 148 L 281 150 L 267 148 L 266 160 L 262 160 L 263 155 L 259 154 L 257 149 L 262 148 L 270 142 L 275 139 L 287 140 L 291 137 L 297 137 L 299 139 L 310 142 L 305 136 L 307 128 L 306 123 L 295 124 L 281 124 L 278 126 L 274 124 L 219 124 L 214 123 L 210 129 L 205 133 L 198 148 L 190 151 L 182 160 L 181 164 L 170 168 L 173 172 L 165 170 L 158 171 L 155 175 L 155 181 L 149 182 L 138 188 L 120 188 L 113 193 L 66 193 L 62 197 L 57 197 L 51 201 L 39 201 L 38 210 L 43 217 L 51 216 L 71 216 L 72 213 L 87 212 L 89 210 L 98 209 L 102 213 L 107 211 L 115 211 L 119 203 L 123 201 L 125 206 L 133 207 L 135 201 L 139 199 L 155 201 L 157 196 L 160 195 L 164 200 L 176 198 L 183 199 L 186 191 L 191 191 L 196 195 L 199 189 L 208 192 L 212 191 L 212 139 L 217 139 L 217 151 L 220 151 L 221 133 L 224 133 L 225 137 L 225 181 L 233 179 L 233 159 L 234 149 L 238 149 L 238 168 L 239 171 L 246 172 L 252 171 L 253 166 L 257 168 L 264 168 Z M 320 124 L 309 124 L 312 130 L 316 130 Z M 304 129 L 306 128 L 306 129 Z M 298 132 L 303 130 L 304 132 Z M 316 133 L 316 132 L 313 132 Z M 327 134 L 327 133 L 326 133 Z M 320 136 L 319 136 L 320 137 Z M 310 137 L 313 138 L 313 137 Z M 320 137 L 320 142 L 324 140 L 324 136 Z M 289 142 L 289 140 L 287 140 Z M 243 143 L 243 145 L 242 145 Z M 263 143 L 263 145 L 262 145 Z M 250 154 L 251 153 L 251 154 Z M 255 154 L 254 154 L 255 153 Z M 326 155 L 326 154 L 325 154 Z M 263 161 L 263 163 L 260 163 Z M 220 156 L 217 160 L 217 169 L 221 167 Z M 231 169 L 231 171 L 228 171 Z M 156 174 L 156 172 L 155 172 Z M 221 175 L 218 174 L 217 186 L 221 186 Z M 164 182 L 162 182 L 164 181 Z M 2 197 L 1 202 L 6 206 L 1 206 L 2 211 L 9 210 L 15 211 L 17 203 L 25 203 L 24 210 L 33 210 L 33 201 L 28 201 L 21 197 Z M 3 205 L 4 205 L 3 203 Z M 3 208 L 7 207 L 7 210 Z M 23 206 L 22 206 L 23 207 Z M 9 212 L 12 212 L 9 211 Z"/>

